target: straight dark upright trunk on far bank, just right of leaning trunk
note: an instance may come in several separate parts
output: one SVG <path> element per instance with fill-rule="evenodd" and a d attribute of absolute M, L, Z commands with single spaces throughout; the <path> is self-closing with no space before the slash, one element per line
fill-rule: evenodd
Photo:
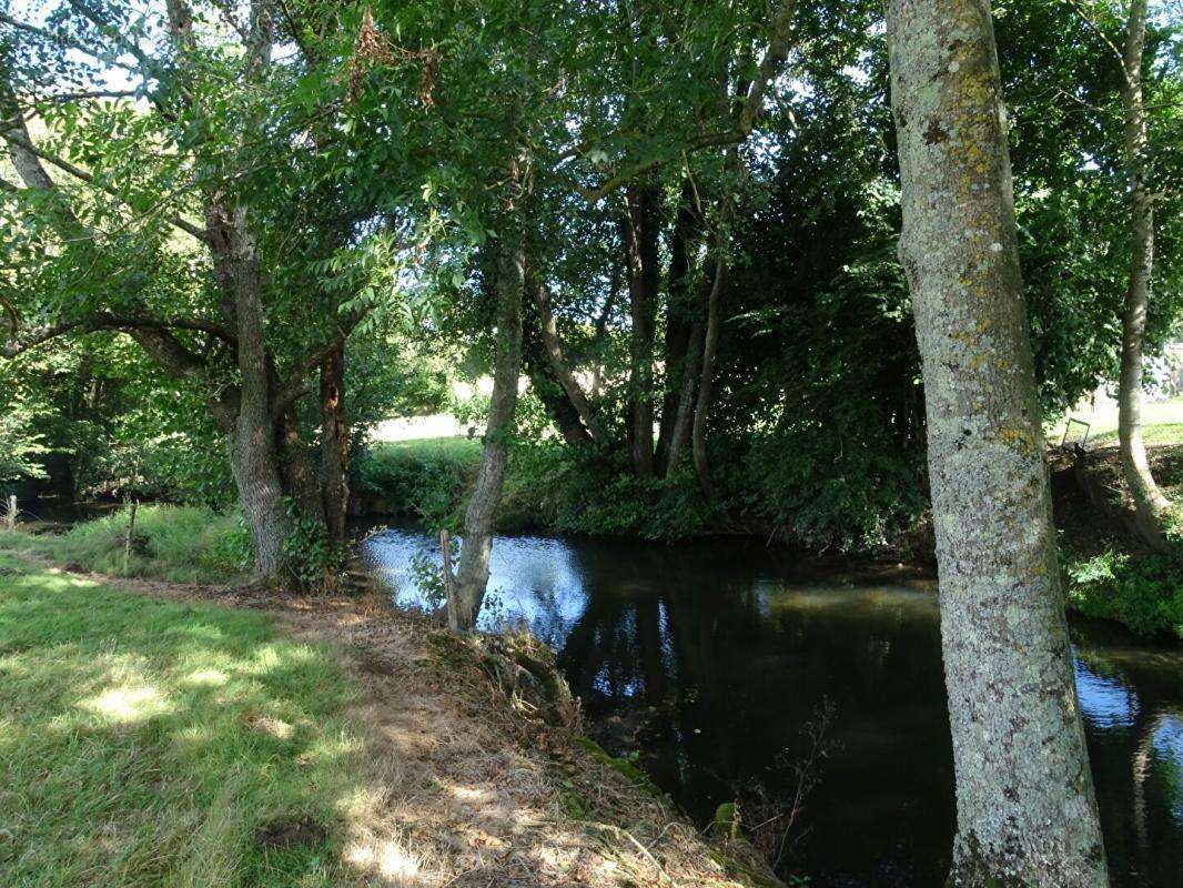
<path fill-rule="evenodd" d="M 653 326 L 658 288 L 658 206 L 651 188 L 629 187 L 625 245 L 633 328 L 629 335 L 628 448 L 639 478 L 653 477 Z"/>

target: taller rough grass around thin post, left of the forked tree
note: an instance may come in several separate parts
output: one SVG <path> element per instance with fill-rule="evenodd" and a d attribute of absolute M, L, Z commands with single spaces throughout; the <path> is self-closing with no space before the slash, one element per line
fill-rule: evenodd
<path fill-rule="evenodd" d="M 128 510 L 72 527 L 60 536 L 0 534 L 0 549 L 37 552 L 96 573 L 123 574 Z M 141 506 L 138 546 L 128 561 L 130 577 L 177 583 L 241 579 L 251 566 L 250 532 L 235 514 L 192 506 Z"/>

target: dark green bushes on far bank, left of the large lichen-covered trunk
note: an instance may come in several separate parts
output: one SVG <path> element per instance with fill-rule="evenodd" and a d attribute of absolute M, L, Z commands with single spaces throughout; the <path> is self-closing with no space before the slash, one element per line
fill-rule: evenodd
<path fill-rule="evenodd" d="M 923 509 L 916 464 L 849 440 L 823 458 L 803 436 L 777 456 L 756 444 L 742 464 L 718 461 L 718 504 L 705 500 L 686 463 L 667 478 L 633 475 L 621 451 L 599 453 L 554 439 L 521 438 L 512 449 L 498 516 L 506 530 L 680 540 L 728 532 L 772 534 L 815 547 L 878 551 Z M 480 459 L 476 439 L 377 445 L 354 466 L 354 493 L 394 513 L 459 529 Z"/>

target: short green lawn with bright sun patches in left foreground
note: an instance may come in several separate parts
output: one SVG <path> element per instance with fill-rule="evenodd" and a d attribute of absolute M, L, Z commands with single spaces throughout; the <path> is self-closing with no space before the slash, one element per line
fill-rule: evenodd
<path fill-rule="evenodd" d="M 0 884 L 351 883 L 340 652 L 0 553 Z M 264 849 L 278 819 L 324 826 Z"/>

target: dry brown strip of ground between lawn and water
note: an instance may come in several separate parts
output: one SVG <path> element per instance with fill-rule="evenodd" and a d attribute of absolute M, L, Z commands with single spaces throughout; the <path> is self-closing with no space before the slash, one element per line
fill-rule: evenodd
<path fill-rule="evenodd" d="M 577 718 L 551 713 L 548 723 L 508 696 L 490 678 L 499 669 L 491 661 L 504 659 L 496 643 L 460 642 L 373 597 L 88 575 L 140 594 L 263 610 L 291 635 L 341 648 L 369 747 L 369 792 L 350 805 L 344 855 L 374 886 L 778 884 L 745 843 L 703 838 L 588 751 Z"/>

